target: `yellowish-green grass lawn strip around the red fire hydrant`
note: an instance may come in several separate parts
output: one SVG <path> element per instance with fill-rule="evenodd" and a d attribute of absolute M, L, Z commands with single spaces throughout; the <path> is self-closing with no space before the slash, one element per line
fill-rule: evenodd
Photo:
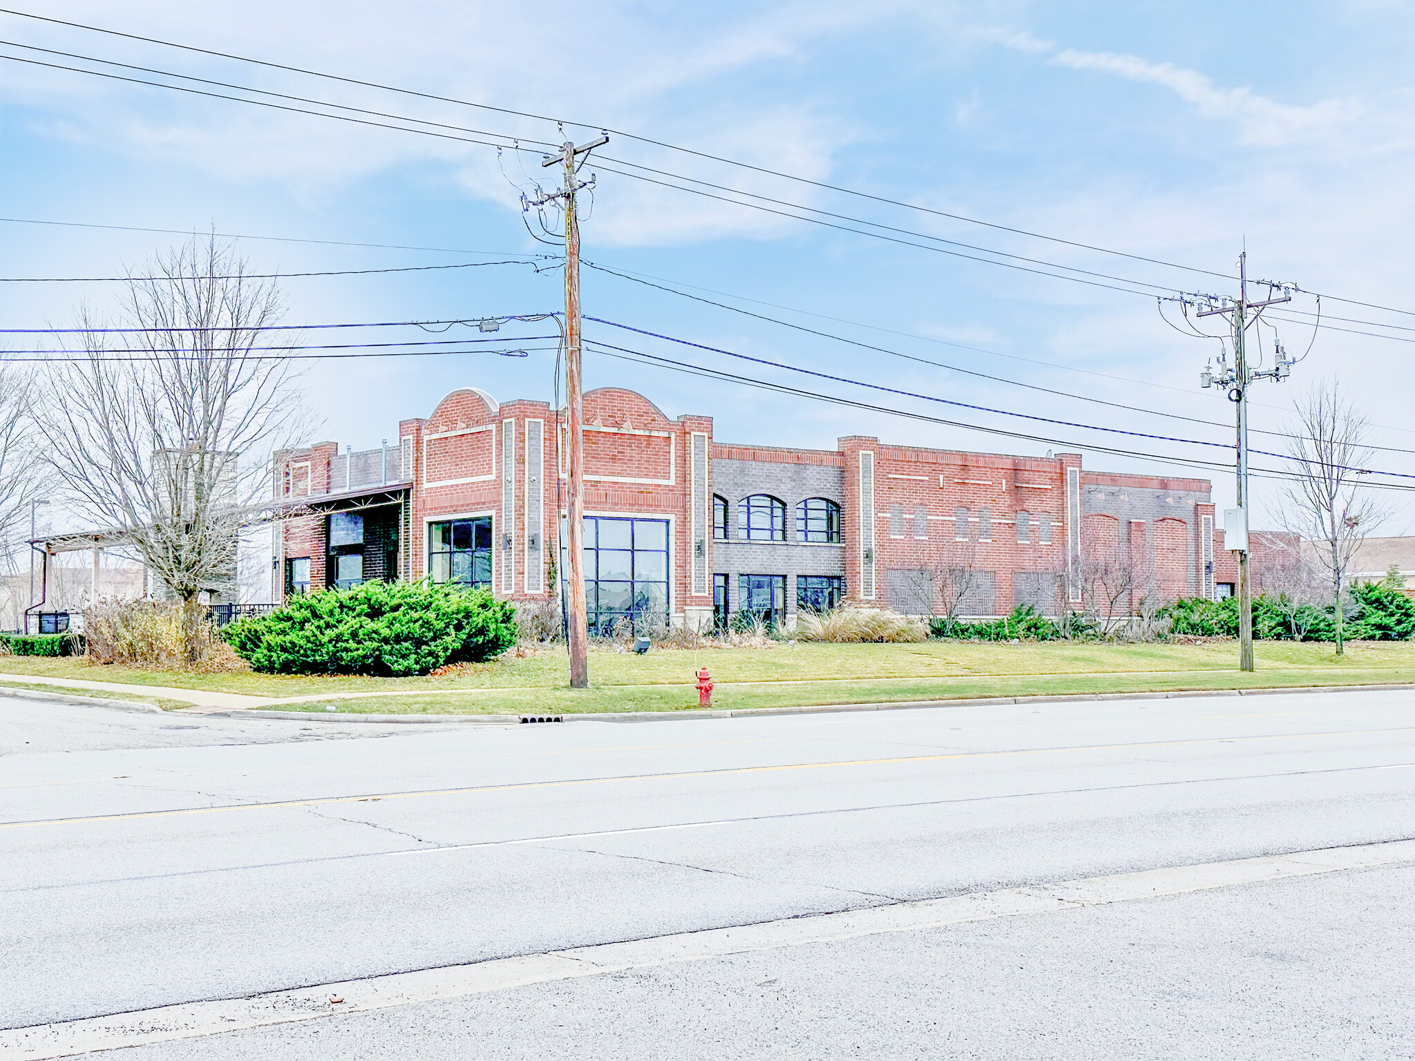
<path fill-rule="evenodd" d="M 1258 672 L 1254 675 L 1244 675 L 1237 669 L 1237 656 L 1238 649 L 1232 642 L 801 644 L 771 649 L 654 649 L 644 656 L 591 649 L 591 688 L 577 692 L 565 688 L 565 655 L 555 651 L 480 663 L 443 678 L 314 678 L 249 672 L 190 675 L 93 666 L 82 658 L 35 656 L 6 656 L 0 659 L 0 672 L 219 689 L 275 699 L 391 690 L 409 693 L 334 700 L 340 710 L 379 713 L 681 710 L 698 706 L 693 676 L 699 665 L 706 665 L 717 683 L 713 706 L 724 709 L 1036 693 L 1415 682 L 1415 645 L 1411 644 L 1350 644 L 1346 656 L 1337 658 L 1332 645 L 1259 642 Z M 323 710 L 324 703 L 314 707 Z"/>

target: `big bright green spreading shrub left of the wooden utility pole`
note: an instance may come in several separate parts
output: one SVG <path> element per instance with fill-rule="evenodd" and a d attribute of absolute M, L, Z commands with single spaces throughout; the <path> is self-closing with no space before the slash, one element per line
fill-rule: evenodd
<path fill-rule="evenodd" d="M 424 675 L 480 662 L 516 642 L 515 607 L 488 590 L 368 581 L 293 597 L 225 628 L 255 671 L 286 675 Z"/>

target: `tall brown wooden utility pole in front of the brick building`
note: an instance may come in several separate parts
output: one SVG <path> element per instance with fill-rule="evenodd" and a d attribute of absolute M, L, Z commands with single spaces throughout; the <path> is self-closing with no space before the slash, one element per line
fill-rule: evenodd
<path fill-rule="evenodd" d="M 569 430 L 569 461 L 566 467 L 566 538 L 569 539 L 570 600 L 565 639 L 570 649 L 570 688 L 590 685 L 589 628 L 584 600 L 584 405 L 580 375 L 580 224 L 574 211 L 574 192 L 582 185 L 576 180 L 576 157 L 589 154 L 608 143 L 607 136 L 576 147 L 566 141 L 560 154 L 550 156 L 542 166 L 565 167 L 565 188 L 541 197 L 539 202 L 563 199 L 565 208 L 565 398 L 566 427 Z M 539 204 L 538 204 L 539 205 Z"/>

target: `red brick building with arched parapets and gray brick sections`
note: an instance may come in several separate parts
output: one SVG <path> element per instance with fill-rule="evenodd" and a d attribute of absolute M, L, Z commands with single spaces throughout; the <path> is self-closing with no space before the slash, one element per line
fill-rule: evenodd
<path fill-rule="evenodd" d="M 398 443 L 277 456 L 308 509 L 277 532 L 276 600 L 369 579 L 457 581 L 559 601 L 565 417 L 456 390 Z M 1206 480 L 850 436 L 836 450 L 713 440 L 633 390 L 584 395 L 591 624 L 790 621 L 839 601 L 910 614 L 1056 614 L 1221 596 L 1235 581 Z"/>

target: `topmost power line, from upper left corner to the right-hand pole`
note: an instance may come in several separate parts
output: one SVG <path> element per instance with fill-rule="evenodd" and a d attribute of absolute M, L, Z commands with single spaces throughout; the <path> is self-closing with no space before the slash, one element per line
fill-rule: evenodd
<path fill-rule="evenodd" d="M 952 214 L 952 212 L 948 212 L 948 211 L 934 209 L 931 207 L 921 207 L 921 205 L 914 204 L 914 202 L 904 202 L 904 201 L 891 199 L 891 198 L 887 198 L 887 197 L 883 197 L 883 195 L 873 195 L 870 192 L 857 191 L 855 188 L 846 188 L 846 187 L 836 185 L 836 184 L 829 184 L 829 182 L 825 182 L 825 181 L 811 180 L 808 177 L 798 177 L 795 174 L 782 173 L 782 171 L 778 171 L 778 170 L 771 170 L 771 168 L 767 168 L 767 167 L 763 167 L 763 166 L 754 166 L 754 164 L 737 161 L 737 160 L 733 160 L 733 158 L 724 158 L 722 156 L 710 154 L 708 151 L 699 151 L 699 150 L 695 150 L 695 149 L 691 149 L 691 147 L 681 147 L 678 144 L 665 143 L 662 140 L 654 140 L 651 137 L 637 136 L 635 133 L 627 133 L 627 132 L 623 132 L 623 130 L 618 130 L 618 129 L 608 129 L 606 126 L 587 124 L 584 122 L 569 122 L 569 120 L 565 120 L 565 119 L 555 119 L 555 117 L 549 117 L 546 115 L 536 115 L 536 113 L 531 113 L 531 112 L 526 112 L 526 110 L 515 110 L 515 109 L 511 109 L 511 108 L 498 108 L 498 106 L 492 106 L 490 103 L 473 103 L 473 102 L 466 100 L 466 99 L 454 99 L 451 96 L 439 96 L 439 95 L 434 95 L 434 93 L 430 93 L 430 92 L 417 92 L 417 91 L 413 91 L 413 89 L 398 88 L 395 85 L 382 85 L 379 82 L 361 81 L 358 78 L 345 78 L 345 76 L 341 76 L 341 75 L 337 75 L 337 74 L 324 74 L 321 71 L 306 69 L 303 66 L 291 66 L 291 65 L 279 64 L 279 62 L 269 62 L 266 59 L 253 59 L 253 58 L 249 58 L 246 55 L 235 55 L 235 54 L 231 54 L 231 52 L 212 51 L 209 48 L 198 48 L 195 45 L 178 44 L 175 41 L 164 41 L 164 40 L 160 40 L 160 38 L 156 38 L 156 37 L 142 37 L 139 34 L 123 33 L 120 30 L 108 30 L 108 28 L 98 27 L 98 25 L 88 25 L 85 23 L 75 23 L 75 21 L 67 21 L 64 18 L 52 18 L 52 17 L 47 17 L 47 16 L 31 14 L 28 11 L 16 11 L 16 10 L 11 10 L 11 8 L 0 8 L 0 13 L 18 16 L 21 18 L 34 18 L 34 20 L 38 20 L 38 21 L 55 23 L 55 24 L 59 24 L 59 25 L 69 25 L 69 27 L 74 27 L 74 28 L 78 28 L 78 30 L 88 30 L 91 33 L 108 34 L 110 37 L 123 37 L 123 38 L 133 40 L 133 41 L 143 41 L 146 44 L 158 44 L 158 45 L 163 45 L 163 47 L 167 47 L 167 48 L 180 48 L 183 51 L 198 52 L 198 54 L 202 54 L 202 55 L 214 55 L 214 57 L 222 58 L 222 59 L 235 59 L 238 62 L 248 62 L 248 64 L 252 64 L 252 65 L 266 66 L 266 68 L 270 68 L 270 69 L 283 69 L 283 71 L 289 71 L 291 74 L 303 74 L 306 76 L 313 76 L 313 78 L 324 78 L 324 79 L 328 79 L 328 81 L 340 81 L 340 82 L 344 82 L 344 83 L 348 83 L 348 85 L 359 85 L 362 88 L 379 89 L 382 92 L 398 92 L 400 95 L 417 96 L 420 99 L 432 99 L 432 100 L 437 100 L 437 102 L 441 102 L 441 103 L 456 103 L 458 106 L 477 108 L 480 110 L 491 110 L 491 112 L 501 113 L 501 115 L 514 115 L 516 117 L 529 117 L 529 119 L 538 120 L 538 122 L 553 122 L 556 124 L 579 126 L 580 129 L 594 129 L 594 130 L 610 132 L 610 133 L 614 133 L 616 136 L 623 136 L 625 139 L 637 140 L 638 143 L 651 144 L 654 147 L 664 147 L 664 149 L 668 149 L 668 150 L 672 150 L 672 151 L 681 151 L 683 154 L 691 154 L 691 156 L 695 156 L 698 158 L 706 158 L 706 160 L 722 163 L 722 164 L 726 164 L 726 166 L 736 166 L 739 168 L 751 170 L 754 173 L 767 174 L 770 177 L 778 177 L 781 180 L 795 181 L 798 184 L 807 184 L 807 185 L 822 188 L 822 190 L 826 190 L 826 191 L 835 191 L 835 192 L 841 192 L 841 194 L 845 194 L 845 195 L 855 195 L 857 198 L 865 198 L 865 199 L 870 199 L 870 201 L 874 201 L 874 202 L 882 202 L 882 204 L 886 204 L 886 205 L 890 205 L 890 207 L 900 207 L 903 209 L 911 209 L 911 211 L 917 211 L 917 212 L 921 212 L 921 214 L 931 214 L 934 216 L 948 218 L 949 221 L 962 221 L 962 222 L 969 224 L 969 225 L 981 225 L 983 228 L 990 228 L 990 229 L 995 229 L 995 231 L 999 231 L 999 232 L 1012 232 L 1013 235 L 1029 236 L 1032 239 L 1044 239 L 1047 242 L 1061 243 L 1061 245 L 1065 245 L 1065 246 L 1074 246 L 1074 248 L 1078 248 L 1078 249 L 1082 249 L 1082 250 L 1094 250 L 1097 253 L 1115 255 L 1118 257 L 1128 257 L 1128 259 L 1132 259 L 1132 260 L 1136 260 L 1136 262 L 1148 262 L 1150 265 L 1159 265 L 1159 266 L 1165 266 L 1167 269 L 1180 269 L 1183 272 L 1204 273 L 1207 276 L 1218 276 L 1218 277 L 1224 277 L 1224 279 L 1230 279 L 1230 280 L 1232 279 L 1232 276 L 1228 274 L 1228 273 L 1217 273 L 1217 272 L 1210 270 L 1210 269 L 1199 269 L 1196 266 L 1177 265 L 1174 262 L 1166 262 L 1166 260 L 1157 259 L 1157 257 L 1146 257 L 1145 255 L 1132 255 L 1132 253 L 1128 253 L 1125 250 L 1112 250 L 1109 248 L 1095 246 L 1095 245 L 1091 245 L 1091 243 L 1081 243 L 1081 242 L 1071 240 L 1071 239 L 1061 239 L 1058 236 L 1047 236 L 1047 235 L 1043 235 L 1040 232 L 1030 232 L 1027 229 L 1013 228 L 1010 225 L 999 225 L 999 224 L 989 222 L 989 221 L 981 221 L 978 218 L 965 216 L 962 214 Z"/>

